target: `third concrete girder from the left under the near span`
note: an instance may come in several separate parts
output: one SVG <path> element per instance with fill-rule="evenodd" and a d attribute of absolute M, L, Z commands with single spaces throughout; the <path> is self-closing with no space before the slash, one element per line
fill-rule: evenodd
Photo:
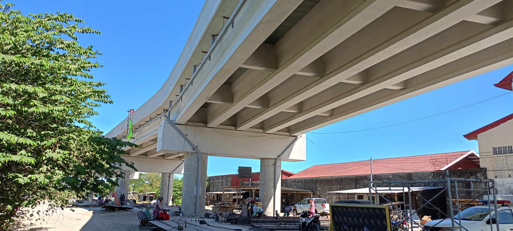
<path fill-rule="evenodd" d="M 450 4 L 449 6 L 431 15 L 426 15 L 429 13 L 421 11 L 401 11 L 403 12 L 402 16 L 408 16 L 409 19 L 407 21 L 397 21 L 398 19 L 400 19 L 400 17 L 398 17 L 397 15 L 391 15 L 391 13 L 388 12 L 388 14 L 383 15 L 383 17 L 391 17 L 390 20 L 395 20 L 398 26 L 400 25 L 404 28 L 403 30 L 397 31 L 399 28 L 383 27 L 381 30 L 376 31 L 376 33 L 374 33 L 373 36 L 367 38 L 366 40 L 364 39 L 364 37 L 354 36 L 349 40 L 344 41 L 343 43 L 341 43 L 340 45 L 338 45 L 337 47 L 333 48 L 328 53 L 323 55 L 325 69 L 328 74 L 326 74 L 319 80 L 315 81 L 314 83 L 302 88 L 301 90 L 295 91 L 294 94 L 289 95 L 288 97 L 281 100 L 279 103 L 270 105 L 269 108 L 265 111 L 255 115 L 255 117 L 253 117 L 252 119 L 239 125 L 238 129 L 244 130 L 278 113 L 279 111 L 281 111 L 282 108 L 286 108 L 289 107 L 291 104 L 296 104 L 298 102 L 306 100 L 309 97 L 312 97 L 313 95 L 320 93 L 323 90 L 326 90 L 329 87 L 341 82 L 341 80 L 347 79 L 354 74 L 364 71 L 367 68 L 376 65 L 379 62 L 382 62 L 388 59 L 389 57 L 396 55 L 399 52 L 404 51 L 407 48 L 410 48 L 418 44 L 426 38 L 429 38 L 463 21 L 468 16 L 473 15 L 483 9 L 486 9 L 499 1 L 500 0 L 489 2 L 475 0 L 460 0 Z M 423 13 L 424 15 L 420 13 Z M 416 22 L 416 20 L 418 20 L 419 22 Z M 364 33 L 366 32 L 365 30 L 373 28 L 372 26 L 381 25 L 383 23 L 387 24 L 385 20 L 377 20 L 372 25 L 369 25 L 369 27 L 364 28 L 360 33 Z M 390 21 L 388 21 L 388 23 L 390 23 Z M 408 24 L 412 25 L 408 26 Z M 380 32 L 387 35 L 384 38 L 382 38 L 384 42 L 381 42 L 378 39 L 380 36 L 376 36 L 376 34 Z M 357 45 L 352 45 L 348 43 L 356 41 L 362 42 L 357 43 Z M 365 46 L 362 47 L 362 45 Z M 360 50 L 360 47 L 362 47 L 363 49 Z M 365 47 L 370 47 L 370 49 L 365 49 Z M 340 55 L 341 53 L 350 53 L 356 55 Z M 390 83 L 388 86 L 397 84 L 399 82 L 401 81 Z M 366 85 L 368 85 L 368 83 L 364 86 Z M 360 87 L 359 89 L 361 89 L 362 87 Z M 382 88 L 383 87 L 379 89 Z M 326 107 L 323 109 L 329 110 L 331 108 Z M 304 114 L 305 113 L 308 113 L 308 115 L 310 115 L 310 111 L 304 111 Z M 300 115 L 300 117 L 302 116 L 303 114 Z M 311 116 L 312 115 L 310 115 L 310 117 Z M 298 119 L 301 121 L 301 119 L 306 118 L 302 117 Z M 297 118 L 291 119 L 295 120 Z M 289 121 L 284 122 L 290 124 Z M 266 132 L 272 133 L 271 131 L 277 129 L 278 127 L 282 127 L 282 124 L 278 124 L 277 126 L 274 126 L 271 129 L 266 129 Z"/>

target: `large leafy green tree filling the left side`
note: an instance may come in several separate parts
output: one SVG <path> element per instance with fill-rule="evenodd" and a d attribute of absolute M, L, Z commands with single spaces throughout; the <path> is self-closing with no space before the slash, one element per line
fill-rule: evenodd
<path fill-rule="evenodd" d="M 89 73 L 101 53 L 77 35 L 100 32 L 73 14 L 25 16 L 13 6 L 0 5 L 0 229 L 30 216 L 27 207 L 104 194 L 123 178 L 119 166 L 135 169 L 120 156 L 135 145 L 88 120 L 112 101 Z"/>

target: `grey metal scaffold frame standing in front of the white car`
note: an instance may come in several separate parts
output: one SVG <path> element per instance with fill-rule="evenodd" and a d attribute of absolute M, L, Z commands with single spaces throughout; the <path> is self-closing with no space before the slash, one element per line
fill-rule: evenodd
<path fill-rule="evenodd" d="M 458 183 L 462 183 L 462 182 L 470 182 L 470 188 L 458 188 Z M 438 192 L 437 195 L 433 196 L 431 199 L 429 200 L 426 200 L 424 197 L 422 197 L 418 192 L 416 191 L 413 191 L 411 190 L 411 185 L 415 185 L 415 184 L 435 184 L 435 183 L 438 183 L 438 184 L 445 184 L 445 187 L 440 191 Z M 475 189 L 473 188 L 473 184 L 474 183 L 485 183 L 486 184 L 486 187 L 487 187 L 487 190 L 486 189 Z M 490 186 L 490 183 L 491 183 L 491 186 Z M 396 205 L 392 204 L 392 202 L 390 202 L 385 196 L 383 196 L 382 194 L 380 194 L 380 189 L 378 189 L 378 184 L 388 184 L 389 187 L 391 188 L 392 184 L 402 184 L 403 185 L 403 189 L 402 189 L 402 192 L 403 192 L 403 202 L 404 202 L 404 205 L 405 205 L 405 211 L 408 210 L 408 211 L 413 211 L 412 209 L 412 204 L 411 204 L 411 194 L 415 194 L 415 196 L 418 196 L 421 198 L 422 201 L 424 201 L 425 203 L 420 206 L 419 208 L 415 209 L 415 211 L 413 212 L 410 212 L 410 213 L 405 213 L 401 208 L 397 207 Z M 381 199 L 384 199 L 387 203 L 390 203 L 391 206 L 393 206 L 394 208 L 396 208 L 397 210 L 401 211 L 401 214 L 405 217 L 403 218 L 400 222 L 398 222 L 396 225 L 392 226 L 392 230 L 395 230 L 401 223 L 403 222 L 407 222 L 409 221 L 410 225 L 409 225 L 409 229 L 411 231 L 413 231 L 413 224 L 415 223 L 416 225 L 418 225 L 419 227 L 421 227 L 422 230 L 424 231 L 429 231 L 429 229 L 425 229 L 424 227 L 422 227 L 420 224 L 418 224 L 416 221 L 414 221 L 411 216 L 416 214 L 417 211 L 419 211 L 420 209 L 422 209 L 423 207 L 425 207 L 426 205 L 431 205 L 433 207 L 435 207 L 441 214 L 445 215 L 446 217 L 450 218 L 451 220 L 451 225 L 452 225 L 452 230 L 456 230 L 456 224 L 459 225 L 460 227 L 460 230 L 466 230 L 466 231 L 473 231 L 473 230 L 469 230 L 467 228 L 465 228 L 462 224 L 461 224 L 461 220 L 459 219 L 456 219 L 454 218 L 455 214 L 454 214 L 454 211 L 453 211 L 453 207 L 452 207 L 452 195 L 451 195 L 451 184 L 454 184 L 454 191 L 455 191 L 455 195 L 456 195 L 456 204 L 458 205 L 458 215 L 460 214 L 460 211 L 465 208 L 468 204 L 470 204 L 471 202 L 473 201 L 476 201 L 479 197 L 482 197 L 484 196 L 484 194 L 486 193 L 486 195 L 488 196 L 488 201 L 490 201 L 490 189 L 491 189 L 491 195 L 493 196 L 494 198 L 494 214 L 497 214 L 497 193 L 496 193 L 496 189 L 495 189 L 495 181 L 493 179 L 466 179 L 466 178 L 450 178 L 449 177 L 449 171 L 446 170 L 446 178 L 445 179 L 441 179 L 441 180 L 426 180 L 426 181 L 369 181 L 369 200 L 371 201 L 372 203 L 372 191 L 374 191 L 374 193 L 376 194 L 376 197 Z M 405 191 L 405 186 L 407 188 L 407 191 Z M 387 189 L 388 190 L 388 189 Z M 459 199 L 459 196 L 458 196 L 458 191 L 459 190 L 470 190 L 470 191 L 482 191 L 481 194 L 479 194 L 477 197 L 473 198 L 472 200 L 470 200 L 469 202 L 467 202 L 465 205 L 460 206 L 460 199 Z M 447 198 L 448 198 L 448 204 L 449 204 L 449 215 L 447 215 L 444 211 L 442 211 L 439 207 L 431 204 L 431 201 L 437 197 L 439 197 L 442 192 L 447 192 Z M 405 194 L 408 194 L 408 202 L 406 202 L 406 197 L 405 197 Z M 374 200 L 374 202 L 376 202 L 376 204 L 378 203 L 378 200 Z M 406 206 L 408 208 L 406 208 Z M 488 203 L 488 216 L 491 217 L 491 207 L 490 207 L 490 203 Z M 444 218 L 444 219 L 441 219 L 438 223 L 436 223 L 435 225 L 433 225 L 432 227 L 438 225 L 440 222 L 444 221 L 445 219 L 447 218 Z M 497 229 L 496 230 L 500 230 L 499 228 L 499 216 L 496 216 L 496 226 L 497 226 Z M 493 224 L 492 222 L 490 222 L 490 230 L 493 230 Z"/>

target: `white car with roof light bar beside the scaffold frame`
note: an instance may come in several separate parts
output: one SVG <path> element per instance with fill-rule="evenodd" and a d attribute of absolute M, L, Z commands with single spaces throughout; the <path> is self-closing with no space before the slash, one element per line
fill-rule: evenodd
<path fill-rule="evenodd" d="M 488 203 L 487 200 L 479 202 L 483 203 L 484 205 L 470 207 L 461 211 L 459 215 L 454 216 L 455 222 L 461 222 L 463 227 L 468 230 L 496 231 L 496 215 L 493 204 L 490 206 L 490 217 L 490 214 L 488 214 L 488 205 L 486 205 Z M 500 229 L 513 230 L 513 211 L 511 210 L 511 207 L 505 205 L 511 202 L 506 200 L 497 200 L 497 203 L 497 213 L 499 214 Z M 438 222 L 440 223 L 437 224 Z M 490 229 L 490 223 L 492 224 L 492 229 Z M 456 224 L 455 227 L 457 227 L 456 230 L 458 231 L 464 230 L 460 229 L 459 224 Z M 430 231 L 449 231 L 452 230 L 452 223 L 449 218 L 445 218 L 427 222 L 423 228 Z"/>

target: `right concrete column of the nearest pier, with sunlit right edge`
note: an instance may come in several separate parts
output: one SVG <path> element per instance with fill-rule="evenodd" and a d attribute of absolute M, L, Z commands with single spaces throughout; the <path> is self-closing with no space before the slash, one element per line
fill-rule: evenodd
<path fill-rule="evenodd" d="M 260 201 L 264 214 L 275 216 L 275 211 L 280 211 L 282 194 L 282 162 L 278 161 L 276 174 L 274 174 L 274 162 L 276 159 L 260 159 Z M 274 184 L 276 182 L 276 184 Z M 276 186 L 276 187 L 274 187 Z M 276 189 L 274 189 L 276 188 Z M 274 198 L 275 197 L 275 198 Z M 274 203 L 274 208 L 272 204 Z M 273 211 L 274 210 L 274 211 Z"/>

